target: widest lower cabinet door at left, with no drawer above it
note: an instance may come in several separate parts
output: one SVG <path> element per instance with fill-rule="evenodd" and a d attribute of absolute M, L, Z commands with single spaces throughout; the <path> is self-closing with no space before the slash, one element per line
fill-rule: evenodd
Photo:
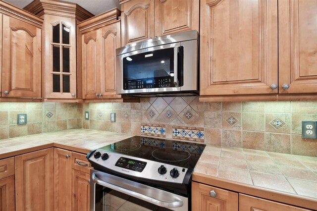
<path fill-rule="evenodd" d="M 17 211 L 53 211 L 54 150 L 39 150 L 15 157 Z"/>

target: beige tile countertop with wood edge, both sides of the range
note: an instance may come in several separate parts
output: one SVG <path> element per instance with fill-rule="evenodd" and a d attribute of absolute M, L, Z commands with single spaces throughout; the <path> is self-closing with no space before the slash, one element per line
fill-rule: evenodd
<path fill-rule="evenodd" d="M 2 139 L 0 158 L 48 147 L 60 147 L 86 154 L 92 149 L 132 136 L 107 131 L 71 129 Z M 317 209 L 317 157 L 207 145 L 195 167 L 193 180 Z"/>

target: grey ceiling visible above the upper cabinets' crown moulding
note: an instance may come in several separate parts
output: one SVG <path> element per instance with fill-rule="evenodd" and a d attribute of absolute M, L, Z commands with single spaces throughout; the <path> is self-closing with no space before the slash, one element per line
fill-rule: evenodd
<path fill-rule="evenodd" d="M 15 6 L 20 8 L 25 7 L 33 0 L 5 0 Z M 68 2 L 77 3 L 78 5 L 84 7 L 89 12 L 94 15 L 101 14 L 113 8 L 120 8 L 118 0 L 65 0 Z"/>

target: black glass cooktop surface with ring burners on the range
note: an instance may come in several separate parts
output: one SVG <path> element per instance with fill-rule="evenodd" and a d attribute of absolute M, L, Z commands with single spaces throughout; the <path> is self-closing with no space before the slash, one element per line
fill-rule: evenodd
<path fill-rule="evenodd" d="M 193 169 L 204 148 L 205 144 L 134 136 L 100 150 Z"/>

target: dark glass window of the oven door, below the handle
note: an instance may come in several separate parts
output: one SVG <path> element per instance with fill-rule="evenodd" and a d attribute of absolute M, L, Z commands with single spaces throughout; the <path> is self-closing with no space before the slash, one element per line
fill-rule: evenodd
<path fill-rule="evenodd" d="M 104 188 L 103 195 L 103 211 L 171 211 L 110 188 Z"/>

